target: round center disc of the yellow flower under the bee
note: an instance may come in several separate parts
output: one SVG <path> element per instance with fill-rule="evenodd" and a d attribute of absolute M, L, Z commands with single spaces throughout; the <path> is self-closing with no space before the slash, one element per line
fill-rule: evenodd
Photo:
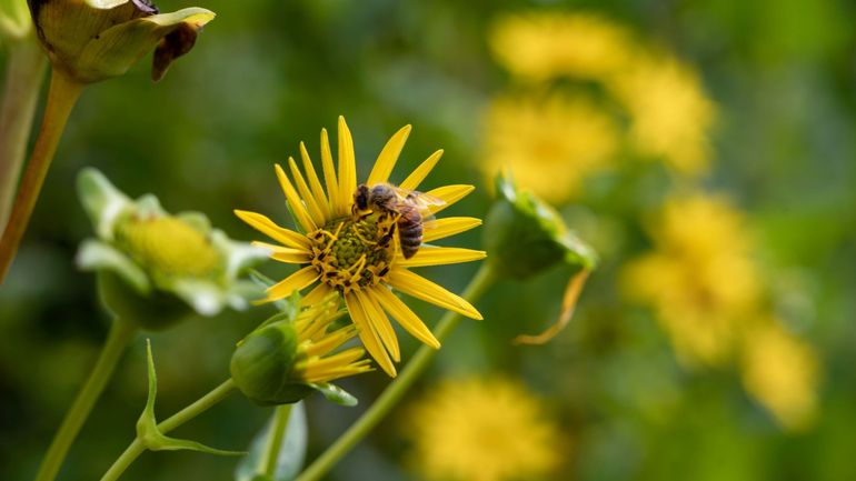
<path fill-rule="evenodd" d="M 342 294 L 386 280 L 394 259 L 395 222 L 386 216 L 340 218 L 309 233 L 321 282 Z"/>

